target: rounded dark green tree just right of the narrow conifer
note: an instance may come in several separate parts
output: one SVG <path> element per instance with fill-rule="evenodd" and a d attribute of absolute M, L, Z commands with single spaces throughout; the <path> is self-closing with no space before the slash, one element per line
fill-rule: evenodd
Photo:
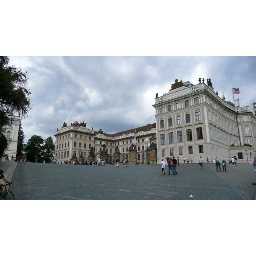
<path fill-rule="evenodd" d="M 42 146 L 44 145 L 44 139 L 41 136 L 33 135 L 24 148 L 29 162 L 35 162 L 35 155 L 38 156 L 38 163 L 42 162 Z"/>

